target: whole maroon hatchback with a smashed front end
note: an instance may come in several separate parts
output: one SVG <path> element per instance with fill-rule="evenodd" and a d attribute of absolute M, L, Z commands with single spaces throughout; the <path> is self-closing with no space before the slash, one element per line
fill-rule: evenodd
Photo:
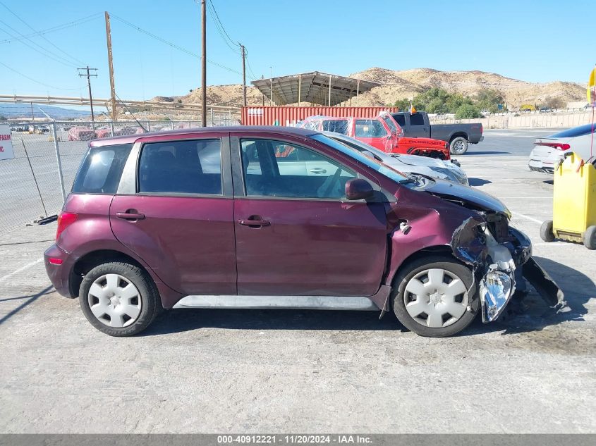
<path fill-rule="evenodd" d="M 425 336 L 562 293 L 499 200 L 406 175 L 319 132 L 229 127 L 91 142 L 45 252 L 95 328 L 163 309 L 391 309 Z"/>

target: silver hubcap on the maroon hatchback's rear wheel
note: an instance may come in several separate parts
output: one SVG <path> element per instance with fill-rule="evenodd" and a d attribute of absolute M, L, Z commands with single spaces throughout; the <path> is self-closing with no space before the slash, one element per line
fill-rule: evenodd
<path fill-rule="evenodd" d="M 128 327 L 141 312 L 141 297 L 137 287 L 119 274 L 97 278 L 87 296 L 89 308 L 97 320 L 115 328 Z"/>

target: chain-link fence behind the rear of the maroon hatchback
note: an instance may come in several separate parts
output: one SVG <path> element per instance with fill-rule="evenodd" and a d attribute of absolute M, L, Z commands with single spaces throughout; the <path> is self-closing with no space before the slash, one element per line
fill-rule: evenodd
<path fill-rule="evenodd" d="M 238 125 L 228 112 L 207 113 L 208 125 Z M 56 215 L 71 190 L 91 140 L 200 127 L 193 120 L 10 123 L 14 158 L 0 160 L 0 233 Z"/>

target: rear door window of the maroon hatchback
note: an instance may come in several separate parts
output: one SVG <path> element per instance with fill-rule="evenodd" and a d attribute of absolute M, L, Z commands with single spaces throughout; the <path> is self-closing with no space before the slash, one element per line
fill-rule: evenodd
<path fill-rule="evenodd" d="M 139 192 L 221 194 L 221 140 L 152 142 L 142 147 Z"/>

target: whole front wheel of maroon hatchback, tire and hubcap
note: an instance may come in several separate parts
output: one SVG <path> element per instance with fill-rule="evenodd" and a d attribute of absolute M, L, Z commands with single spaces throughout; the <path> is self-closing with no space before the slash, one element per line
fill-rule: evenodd
<path fill-rule="evenodd" d="M 421 336 L 454 335 L 470 325 L 480 308 L 472 271 L 448 256 L 411 262 L 400 271 L 394 290 L 395 315 Z"/>

